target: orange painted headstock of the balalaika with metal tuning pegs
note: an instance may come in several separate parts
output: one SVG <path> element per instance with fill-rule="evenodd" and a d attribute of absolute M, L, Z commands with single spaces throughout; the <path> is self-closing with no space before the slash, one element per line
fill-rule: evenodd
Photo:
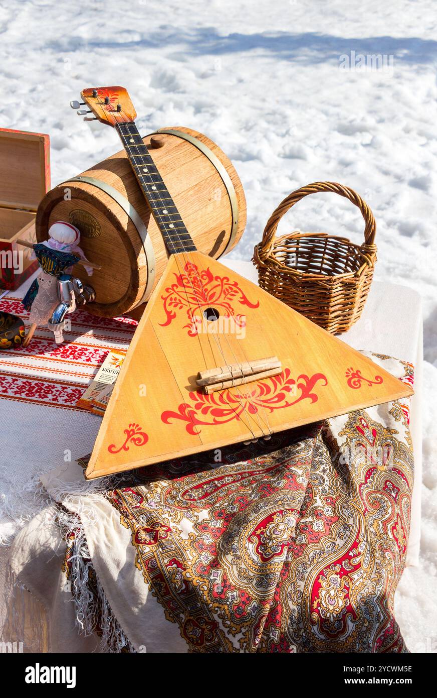
<path fill-rule="evenodd" d="M 116 126 L 126 121 L 133 121 L 137 116 L 128 91 L 124 87 L 87 87 L 82 90 L 80 96 L 83 101 L 70 102 L 70 107 L 76 110 L 81 106 L 89 107 L 89 111 L 77 112 L 77 114 L 94 114 L 91 117 L 84 117 L 84 121 L 98 119 L 102 124 Z"/>

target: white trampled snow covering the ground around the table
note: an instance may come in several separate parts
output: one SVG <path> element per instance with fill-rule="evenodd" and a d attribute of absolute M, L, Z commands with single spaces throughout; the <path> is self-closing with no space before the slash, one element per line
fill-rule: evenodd
<path fill-rule="evenodd" d="M 340 181 L 369 202 L 376 279 L 415 288 L 424 304 L 422 565 L 401 580 L 397 617 L 412 651 L 436 652 L 435 1 L 8 0 L 0 27 L 1 126 L 50 134 L 53 184 L 119 148 L 70 99 L 124 84 L 142 133 L 197 128 L 236 165 L 248 219 L 235 258 L 250 258 L 298 186 Z M 296 228 L 362 239 L 359 212 L 333 195 L 300 202 L 279 232 Z"/>

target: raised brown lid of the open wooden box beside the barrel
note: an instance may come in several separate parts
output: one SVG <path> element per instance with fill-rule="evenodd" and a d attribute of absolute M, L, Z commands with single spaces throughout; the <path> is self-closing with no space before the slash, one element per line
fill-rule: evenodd
<path fill-rule="evenodd" d="M 49 136 L 0 128 L 0 208 L 36 211 L 50 188 Z"/>

